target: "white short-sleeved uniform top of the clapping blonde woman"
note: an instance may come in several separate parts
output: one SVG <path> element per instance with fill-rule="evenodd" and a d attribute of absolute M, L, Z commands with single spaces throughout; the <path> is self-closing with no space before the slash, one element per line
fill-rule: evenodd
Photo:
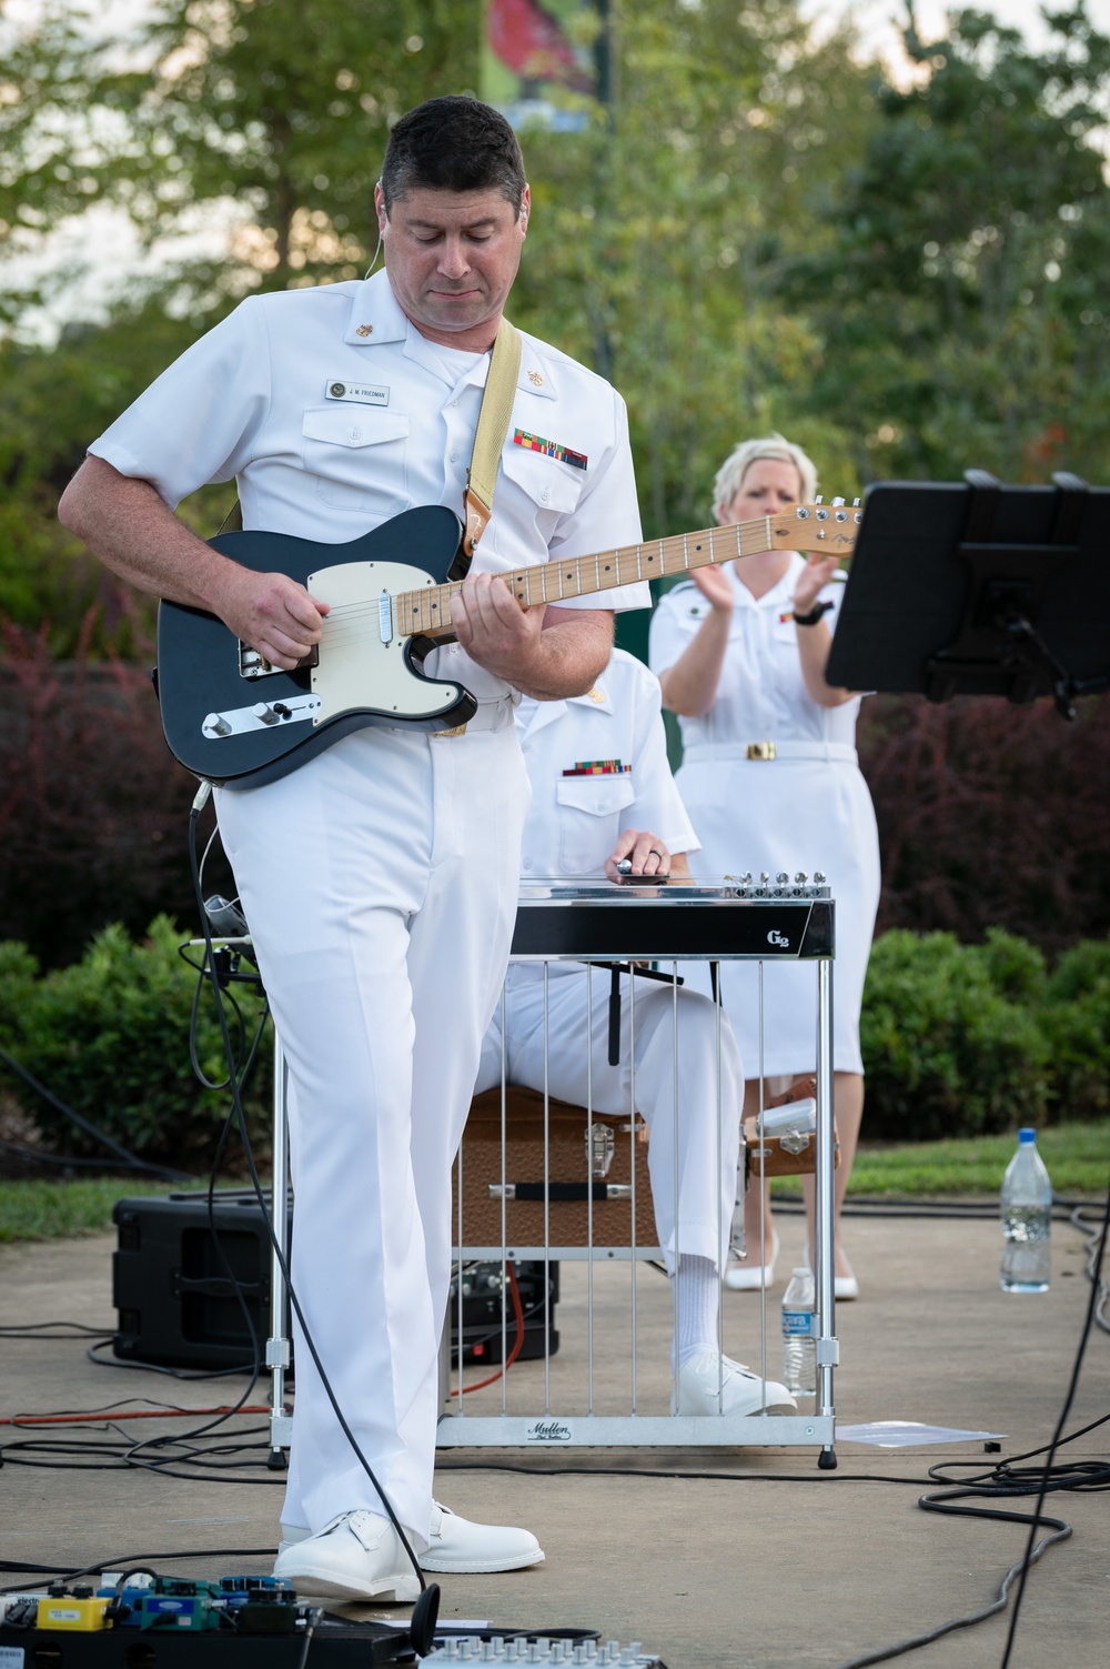
<path fill-rule="evenodd" d="M 733 618 L 716 698 L 699 718 L 679 718 L 683 746 L 696 743 L 836 741 L 855 746 L 860 699 L 820 706 L 808 693 L 798 658 L 793 596 L 805 557 L 795 552 L 780 582 L 753 598 L 731 562 L 721 571 L 733 582 Z M 821 591 L 830 631 L 845 587 L 833 581 Z M 686 581 L 659 599 L 651 618 L 651 666 L 674 666 L 711 613 L 709 599 Z M 806 628 L 803 628 L 805 631 Z"/>

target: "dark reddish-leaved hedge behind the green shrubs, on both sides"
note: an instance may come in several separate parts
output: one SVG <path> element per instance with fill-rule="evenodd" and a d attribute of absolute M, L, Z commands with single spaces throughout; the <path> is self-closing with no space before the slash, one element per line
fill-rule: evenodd
<path fill-rule="evenodd" d="M 162 739 L 149 673 L 47 649 L 0 621 L 0 940 L 73 961 L 108 921 L 195 918 L 185 853 L 194 779 Z M 154 656 L 152 656 L 154 659 Z M 1075 724 L 1050 703 L 903 696 L 863 703 L 860 756 L 878 813 L 878 931 L 1000 926 L 1055 953 L 1110 933 L 1110 703 Z M 210 816 L 210 813 L 207 813 Z M 205 890 L 229 890 L 227 870 Z"/>

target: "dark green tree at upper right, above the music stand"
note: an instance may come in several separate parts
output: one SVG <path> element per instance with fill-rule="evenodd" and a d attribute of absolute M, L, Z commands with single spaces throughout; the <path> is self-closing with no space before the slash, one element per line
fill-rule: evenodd
<path fill-rule="evenodd" d="M 1083 5 L 1053 22 L 1042 53 L 983 12 L 931 45 L 910 30 L 918 82 L 880 88 L 831 242 L 791 270 L 863 479 L 1105 469 L 1110 40 Z"/>

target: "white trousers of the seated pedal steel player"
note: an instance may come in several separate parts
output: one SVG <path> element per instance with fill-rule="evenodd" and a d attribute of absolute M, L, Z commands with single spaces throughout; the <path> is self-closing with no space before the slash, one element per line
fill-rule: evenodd
<path fill-rule="evenodd" d="M 679 976 L 686 970 L 679 963 Z M 669 970 L 666 970 L 669 971 Z M 681 1253 L 723 1267 L 736 1197 L 739 1112 L 744 1075 L 736 1040 L 721 1013 L 719 1097 L 718 1016 L 704 996 L 654 980 L 636 980 L 633 998 L 621 976 L 619 1065 L 609 1065 L 609 971 L 591 975 L 591 1013 L 586 1010 L 586 970 L 551 965 L 547 980 L 547 1088 L 563 1102 L 598 1113 L 631 1113 L 634 1105 L 649 1127 L 648 1170 L 659 1247 L 668 1272 Z M 678 1010 L 678 1035 L 674 1018 Z M 537 963 L 514 963 L 506 978 L 507 1082 L 544 1087 L 544 975 Z M 588 1078 L 588 1050 L 591 1055 Z M 501 1083 L 501 1005 L 482 1043 L 476 1093 Z M 678 1120 L 674 1078 L 678 1063 Z M 718 1117 L 719 1107 L 719 1117 Z M 676 1160 L 678 1155 L 678 1160 Z M 678 1177 L 676 1177 L 678 1162 Z M 678 1183 L 678 1223 L 674 1193 Z"/>

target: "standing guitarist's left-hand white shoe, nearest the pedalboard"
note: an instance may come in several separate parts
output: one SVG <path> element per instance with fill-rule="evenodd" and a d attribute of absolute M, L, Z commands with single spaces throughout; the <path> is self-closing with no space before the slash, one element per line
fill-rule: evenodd
<path fill-rule="evenodd" d="M 379 1599 L 411 1604 L 421 1584 L 389 1519 L 377 1512 L 341 1512 L 317 1535 L 282 1525 L 285 1540 L 274 1576 L 287 1577 L 300 1594 L 330 1599 Z M 292 1537 L 289 1535 L 292 1530 Z"/>

